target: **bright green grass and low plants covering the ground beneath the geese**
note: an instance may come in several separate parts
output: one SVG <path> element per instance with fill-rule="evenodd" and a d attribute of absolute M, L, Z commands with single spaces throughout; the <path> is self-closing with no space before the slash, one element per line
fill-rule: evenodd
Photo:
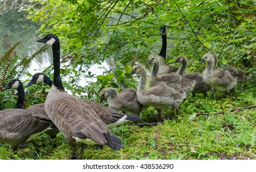
<path fill-rule="evenodd" d="M 256 88 L 237 88 L 227 98 L 188 98 L 181 104 L 180 115 L 174 120 L 152 126 L 125 125 L 112 129 L 112 133 L 123 139 L 125 148 L 112 151 L 109 147 L 88 146 L 85 159 L 256 159 L 256 112 L 255 108 L 241 108 L 256 104 Z M 215 112 L 223 114 L 213 114 Z M 205 112 L 210 115 L 190 115 Z M 166 112 L 170 113 L 169 111 Z M 154 117 L 154 108 L 142 114 L 148 122 Z M 40 151 L 29 143 L 12 155 L 8 145 L 0 145 L 1 159 L 67 159 L 71 150 L 61 134 L 50 139 L 47 135 L 36 138 Z"/>

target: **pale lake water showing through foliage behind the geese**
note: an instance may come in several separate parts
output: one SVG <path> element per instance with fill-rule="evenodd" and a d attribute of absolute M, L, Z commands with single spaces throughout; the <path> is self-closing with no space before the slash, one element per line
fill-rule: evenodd
<path fill-rule="evenodd" d="M 18 41 L 22 41 L 15 49 L 20 57 L 31 56 L 36 50 L 43 46 L 36 42 L 36 40 L 40 38 L 38 29 L 39 26 L 36 25 L 36 23 L 31 22 L 31 20 L 28 20 L 24 13 L 12 11 L 0 15 L 0 38 L 3 39 L 4 35 L 7 34 L 11 45 Z M 51 65 L 51 61 L 52 50 L 49 48 L 45 53 L 39 55 L 32 61 L 29 72 L 31 74 L 41 72 L 44 68 Z M 106 66 L 106 63 L 104 66 Z M 99 69 L 99 65 L 92 66 L 88 71 L 91 71 L 96 75 L 102 74 L 102 71 Z M 92 81 L 95 80 L 96 79 L 93 79 Z M 86 83 L 81 80 L 80 85 L 83 86 L 85 84 Z"/>

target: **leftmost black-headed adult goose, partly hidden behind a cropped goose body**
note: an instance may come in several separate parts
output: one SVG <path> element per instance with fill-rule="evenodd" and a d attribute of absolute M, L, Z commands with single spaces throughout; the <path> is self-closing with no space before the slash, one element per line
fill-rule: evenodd
<path fill-rule="evenodd" d="M 23 106 L 24 101 L 25 101 L 25 91 L 24 91 L 22 82 L 19 79 L 12 79 L 12 80 L 10 80 L 10 82 L 8 82 L 8 84 L 6 85 L 6 87 L 4 87 L 3 90 L 8 90 L 8 89 L 17 89 L 18 100 L 17 100 L 17 104 L 16 104 L 15 108 L 25 109 Z M 28 107 L 25 110 L 28 112 L 31 112 L 31 113 L 47 116 L 46 111 L 44 110 L 44 103 L 35 104 L 33 106 Z M 48 118 L 49 117 L 47 117 L 47 119 Z M 47 135 L 49 135 L 51 138 L 56 138 L 56 135 L 57 135 L 57 133 L 59 133 L 59 130 L 54 125 L 52 125 L 52 130 L 48 130 L 45 133 Z"/>

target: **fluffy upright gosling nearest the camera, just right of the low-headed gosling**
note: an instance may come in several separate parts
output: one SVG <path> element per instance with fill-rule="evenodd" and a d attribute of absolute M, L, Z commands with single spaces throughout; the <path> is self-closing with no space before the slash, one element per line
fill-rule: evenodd
<path fill-rule="evenodd" d="M 177 109 L 186 98 L 186 93 L 175 90 L 164 84 L 146 88 L 147 73 L 142 65 L 136 65 L 130 74 L 140 74 L 141 79 L 137 89 L 139 103 L 144 106 L 153 106 L 157 109 Z"/>

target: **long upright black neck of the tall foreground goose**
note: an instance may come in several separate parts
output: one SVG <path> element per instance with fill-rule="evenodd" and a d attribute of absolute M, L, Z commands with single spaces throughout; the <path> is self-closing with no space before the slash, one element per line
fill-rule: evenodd
<path fill-rule="evenodd" d="M 59 41 L 54 42 L 54 44 L 52 45 L 52 55 L 53 55 L 53 68 L 54 68 L 53 85 L 57 87 L 57 89 L 64 91 L 62 80 L 60 78 L 60 43 Z"/>

